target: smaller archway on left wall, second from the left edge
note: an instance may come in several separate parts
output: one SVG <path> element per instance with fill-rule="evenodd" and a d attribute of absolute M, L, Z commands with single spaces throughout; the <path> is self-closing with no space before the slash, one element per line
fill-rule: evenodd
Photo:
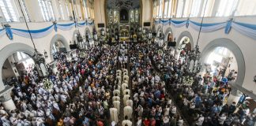
<path fill-rule="evenodd" d="M 70 50 L 70 45 L 62 35 L 55 35 L 51 39 L 51 44 L 50 44 L 50 56 L 51 60 L 54 60 L 54 54 L 59 52 L 59 51 L 69 51 Z"/>

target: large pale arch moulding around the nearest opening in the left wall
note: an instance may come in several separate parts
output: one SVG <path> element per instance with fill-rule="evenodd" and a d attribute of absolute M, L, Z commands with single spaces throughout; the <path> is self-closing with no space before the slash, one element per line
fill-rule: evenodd
<path fill-rule="evenodd" d="M 9 55 L 14 54 L 17 51 L 21 51 L 30 56 L 34 54 L 34 49 L 32 46 L 28 46 L 24 43 L 11 43 L 0 50 L 0 67 L 2 68 L 4 66 L 4 63 Z M 4 83 L 2 82 L 2 69 L 0 69 L 0 89 L 5 89 Z"/>

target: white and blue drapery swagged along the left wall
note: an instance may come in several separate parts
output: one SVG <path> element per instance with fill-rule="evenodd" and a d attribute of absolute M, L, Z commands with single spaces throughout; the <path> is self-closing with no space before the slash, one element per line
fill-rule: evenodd
<path fill-rule="evenodd" d="M 69 23 L 69 24 L 57 24 L 56 22 L 54 22 L 51 26 L 47 28 L 30 30 L 30 33 L 33 39 L 38 39 L 50 34 L 51 31 L 53 30 L 58 31 L 58 29 L 60 29 L 62 31 L 68 31 L 74 26 L 83 27 L 85 25 L 93 25 L 93 24 L 94 24 L 93 20 L 92 22 L 85 21 L 82 23 Z M 19 35 L 25 38 L 30 38 L 28 30 L 11 28 L 10 26 L 0 29 L 0 36 L 5 34 L 9 37 L 9 39 L 13 39 L 13 34 Z"/>

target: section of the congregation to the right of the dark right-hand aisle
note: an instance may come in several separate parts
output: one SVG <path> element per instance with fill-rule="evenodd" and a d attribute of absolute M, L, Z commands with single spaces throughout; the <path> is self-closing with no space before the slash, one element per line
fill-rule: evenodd
<path fill-rule="evenodd" d="M 232 91 L 228 81 L 235 80 L 237 72 L 232 70 L 224 76 L 221 71 L 210 74 L 206 70 L 202 76 L 194 75 L 190 72 L 190 63 L 183 57 L 186 52 L 181 52 L 179 59 L 176 59 L 173 48 L 164 48 L 158 43 L 155 46 L 152 58 L 156 69 L 164 74 L 173 100 L 181 106 L 181 113 L 191 125 L 255 124 L 255 109 L 250 111 L 245 98 L 228 105 L 228 96 Z"/>

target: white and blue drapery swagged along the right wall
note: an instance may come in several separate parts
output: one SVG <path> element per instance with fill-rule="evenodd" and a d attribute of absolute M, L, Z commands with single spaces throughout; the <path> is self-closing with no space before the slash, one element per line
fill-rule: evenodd
<path fill-rule="evenodd" d="M 211 24 L 201 24 L 196 21 L 190 20 L 189 18 L 187 20 L 159 19 L 154 20 L 154 23 L 163 25 L 173 25 L 175 28 L 181 28 L 183 26 L 186 26 L 186 28 L 191 27 L 197 31 L 199 31 L 201 27 L 202 32 L 211 32 L 224 29 L 225 34 L 228 34 L 229 31 L 231 31 L 231 29 L 234 28 L 235 31 L 239 31 L 243 35 L 247 35 L 252 39 L 256 39 L 256 24 L 236 22 L 233 19 L 230 19 L 225 22 Z"/>

